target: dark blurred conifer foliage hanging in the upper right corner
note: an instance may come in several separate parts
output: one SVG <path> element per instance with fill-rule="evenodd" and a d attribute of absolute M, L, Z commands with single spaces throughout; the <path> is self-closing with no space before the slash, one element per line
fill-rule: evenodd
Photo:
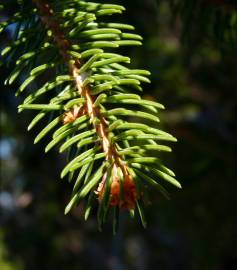
<path fill-rule="evenodd" d="M 222 50 L 237 47 L 236 1 L 170 0 L 170 3 L 173 14 L 181 19 L 182 38 L 187 46 L 212 42 Z"/>

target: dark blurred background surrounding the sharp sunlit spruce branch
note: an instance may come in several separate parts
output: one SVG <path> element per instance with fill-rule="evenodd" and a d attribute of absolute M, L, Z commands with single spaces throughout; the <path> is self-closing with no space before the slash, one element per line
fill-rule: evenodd
<path fill-rule="evenodd" d="M 151 194 L 146 230 L 122 213 L 115 237 L 110 223 L 98 232 L 95 213 L 84 222 L 83 203 L 64 216 L 65 158 L 45 155 L 46 140 L 33 145 L 37 128 L 26 132 L 32 115 L 17 114 L 17 84 L 1 84 L 0 269 L 236 270 L 236 1 L 109 2 L 125 5 L 118 19 L 144 37 L 124 53 L 152 72 L 144 97 L 166 106 L 162 128 L 179 142 L 163 159 L 183 190 L 171 187 L 170 201 Z"/>

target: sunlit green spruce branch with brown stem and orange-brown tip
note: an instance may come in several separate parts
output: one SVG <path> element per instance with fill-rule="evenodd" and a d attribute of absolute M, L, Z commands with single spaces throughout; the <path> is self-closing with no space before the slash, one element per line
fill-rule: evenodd
<path fill-rule="evenodd" d="M 52 133 L 45 151 L 61 143 L 59 151 L 69 153 L 61 177 L 68 175 L 75 184 L 65 213 L 87 197 L 85 219 L 98 200 L 100 228 L 111 209 L 114 229 L 119 209 L 133 214 L 137 208 L 145 225 L 145 187 L 154 187 L 167 197 L 161 179 L 181 186 L 158 158 L 160 151 L 171 151 L 160 141 L 176 141 L 154 126 L 163 105 L 131 93 L 142 90 L 141 82 L 150 82 L 150 73 L 130 69 L 130 59 L 113 52 L 121 46 L 141 45 L 142 38 L 125 32 L 134 30 L 130 25 L 101 21 L 103 16 L 122 13 L 124 7 L 119 5 L 79 0 L 32 0 L 20 5 L 19 12 L 0 25 L 2 31 L 12 23 L 18 26 L 15 40 L 1 53 L 6 63 L 15 63 L 6 83 L 26 76 L 17 94 L 27 89 L 29 94 L 19 111 L 40 111 L 29 130 L 48 113 L 56 115 L 35 143 Z M 29 87 L 49 71 L 52 81 L 39 89 Z M 45 103 L 34 103 L 37 100 Z"/>

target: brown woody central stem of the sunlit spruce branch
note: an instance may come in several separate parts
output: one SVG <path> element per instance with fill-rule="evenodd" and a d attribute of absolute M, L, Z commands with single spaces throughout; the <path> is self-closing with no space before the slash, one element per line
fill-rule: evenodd
<path fill-rule="evenodd" d="M 90 116 L 91 123 L 95 127 L 97 134 L 101 139 L 101 146 L 104 153 L 106 153 L 106 159 L 111 161 L 113 160 L 114 165 L 121 168 L 123 175 L 128 175 L 128 169 L 119 156 L 116 146 L 109 139 L 107 132 L 108 124 L 101 114 L 100 109 L 94 106 L 94 97 L 90 94 L 90 87 L 83 87 L 80 75 L 81 63 L 78 59 L 72 59 L 69 55 L 68 50 L 71 47 L 71 43 L 66 39 L 65 34 L 60 28 L 59 22 L 54 16 L 53 9 L 45 0 L 33 0 L 33 2 L 40 11 L 42 22 L 52 31 L 54 41 L 57 44 L 63 59 L 68 64 L 69 71 L 74 77 L 76 87 L 80 95 L 86 100 L 84 113 L 87 113 Z M 73 64 L 70 60 L 74 60 Z"/>

